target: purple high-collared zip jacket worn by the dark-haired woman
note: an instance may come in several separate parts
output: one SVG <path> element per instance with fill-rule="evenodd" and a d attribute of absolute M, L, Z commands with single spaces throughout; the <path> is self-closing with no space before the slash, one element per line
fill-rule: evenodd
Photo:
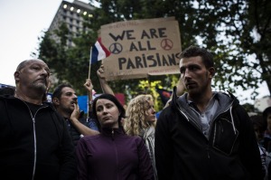
<path fill-rule="evenodd" d="M 102 128 L 101 134 L 79 139 L 76 147 L 78 180 L 151 180 L 150 156 L 141 137 L 121 128 Z"/>

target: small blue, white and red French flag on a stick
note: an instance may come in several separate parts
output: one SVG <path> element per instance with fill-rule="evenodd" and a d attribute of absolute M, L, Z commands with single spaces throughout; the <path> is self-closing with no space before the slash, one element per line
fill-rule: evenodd
<path fill-rule="evenodd" d="M 90 52 L 90 64 L 103 60 L 107 58 L 110 54 L 111 52 L 109 52 L 104 46 L 104 44 L 101 43 L 101 38 L 99 37 L 94 47 L 92 48 L 92 52 Z"/>

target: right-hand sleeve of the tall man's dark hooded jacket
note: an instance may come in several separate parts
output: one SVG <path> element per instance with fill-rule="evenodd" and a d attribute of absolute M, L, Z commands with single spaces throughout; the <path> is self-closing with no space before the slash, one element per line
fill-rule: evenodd
<path fill-rule="evenodd" d="M 257 144 L 257 138 L 248 113 L 241 106 L 236 109 L 237 116 L 240 119 L 240 147 L 238 154 L 243 166 L 251 175 L 251 180 L 260 180 L 264 178 L 261 157 Z"/>

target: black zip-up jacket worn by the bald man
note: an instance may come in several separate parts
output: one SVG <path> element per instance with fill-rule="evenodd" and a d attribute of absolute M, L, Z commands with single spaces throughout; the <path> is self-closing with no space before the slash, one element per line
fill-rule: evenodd
<path fill-rule="evenodd" d="M 0 174 L 5 179 L 76 178 L 67 126 L 50 103 L 32 114 L 26 102 L 0 96 Z"/>

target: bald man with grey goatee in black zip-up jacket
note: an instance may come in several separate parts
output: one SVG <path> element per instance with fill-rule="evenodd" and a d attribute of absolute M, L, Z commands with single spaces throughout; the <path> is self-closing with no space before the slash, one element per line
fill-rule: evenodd
<path fill-rule="evenodd" d="M 5 179 L 76 178 L 75 149 L 65 121 L 42 101 L 49 77 L 42 60 L 23 61 L 14 72 L 14 97 L 0 97 L 0 174 Z"/>

